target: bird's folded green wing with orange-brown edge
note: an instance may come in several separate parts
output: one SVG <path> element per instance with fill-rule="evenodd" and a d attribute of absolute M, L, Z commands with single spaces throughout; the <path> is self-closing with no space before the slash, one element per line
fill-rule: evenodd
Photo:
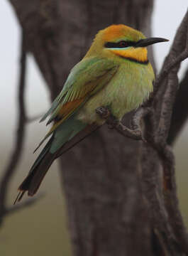
<path fill-rule="evenodd" d="M 65 85 L 52 103 L 52 107 L 41 119 L 50 114 L 49 124 L 55 124 L 48 132 L 49 136 L 65 119 L 79 110 L 96 92 L 101 90 L 114 76 L 118 65 L 112 60 L 100 58 L 85 58 L 72 68 Z"/>

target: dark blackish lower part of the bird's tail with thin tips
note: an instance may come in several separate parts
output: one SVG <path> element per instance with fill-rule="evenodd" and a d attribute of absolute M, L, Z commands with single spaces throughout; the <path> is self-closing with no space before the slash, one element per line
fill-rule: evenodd
<path fill-rule="evenodd" d="M 13 204 L 15 204 L 17 201 L 21 201 L 21 198 L 23 197 L 24 193 L 26 193 L 26 191 L 28 191 L 28 196 L 33 196 L 38 191 L 40 183 L 43 181 L 45 174 L 50 168 L 52 162 L 55 160 L 55 154 L 50 153 L 51 144 L 52 138 L 45 145 L 44 149 L 35 160 L 31 170 L 28 173 L 28 176 L 18 187 L 19 193 Z"/>

